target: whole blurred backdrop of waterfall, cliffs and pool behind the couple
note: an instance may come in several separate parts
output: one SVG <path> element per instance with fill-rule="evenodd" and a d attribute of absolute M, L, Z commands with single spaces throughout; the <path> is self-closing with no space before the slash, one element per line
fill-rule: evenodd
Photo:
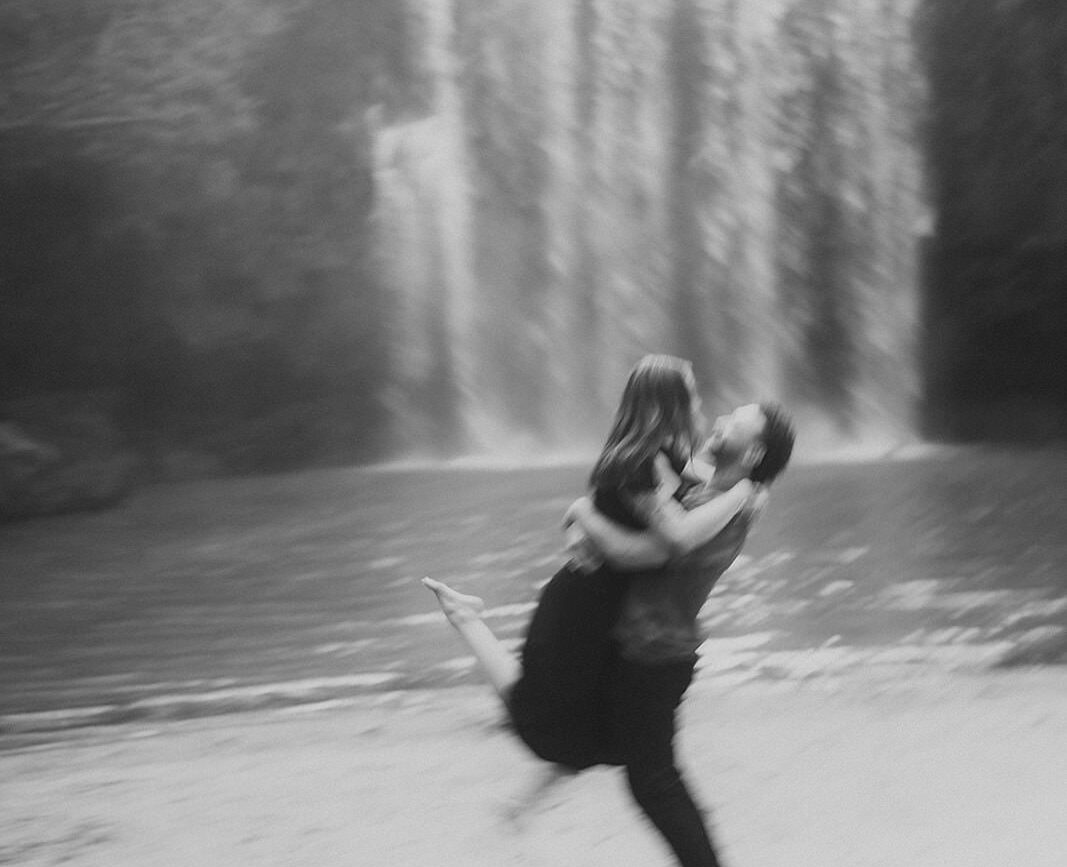
<path fill-rule="evenodd" d="M 517 646 L 647 352 L 830 459 L 719 676 L 1067 661 L 1065 45 L 1036 0 L 0 0 L 0 741 L 474 680 L 418 579 Z"/>

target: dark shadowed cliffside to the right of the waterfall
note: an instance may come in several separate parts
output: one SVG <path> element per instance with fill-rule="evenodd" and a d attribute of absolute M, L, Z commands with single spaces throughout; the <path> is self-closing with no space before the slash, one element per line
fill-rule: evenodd
<path fill-rule="evenodd" d="M 931 432 L 1067 431 L 1067 11 L 927 2 L 917 28 L 938 237 L 924 348 Z"/>

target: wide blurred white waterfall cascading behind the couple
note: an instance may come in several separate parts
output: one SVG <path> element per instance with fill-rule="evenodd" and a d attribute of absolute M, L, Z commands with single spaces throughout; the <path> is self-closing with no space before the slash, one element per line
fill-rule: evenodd
<path fill-rule="evenodd" d="M 646 352 L 711 406 L 907 433 L 914 0 L 407 0 L 373 119 L 398 441 L 579 448 Z"/>

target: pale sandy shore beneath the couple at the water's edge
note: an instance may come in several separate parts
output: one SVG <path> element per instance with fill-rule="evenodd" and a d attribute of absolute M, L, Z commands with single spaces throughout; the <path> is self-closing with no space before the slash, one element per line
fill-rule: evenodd
<path fill-rule="evenodd" d="M 522 826 L 479 689 L 83 730 L 0 753 L 0 863 L 669 865 L 614 769 Z M 1067 672 L 694 686 L 680 746 L 729 867 L 1063 867 Z"/>

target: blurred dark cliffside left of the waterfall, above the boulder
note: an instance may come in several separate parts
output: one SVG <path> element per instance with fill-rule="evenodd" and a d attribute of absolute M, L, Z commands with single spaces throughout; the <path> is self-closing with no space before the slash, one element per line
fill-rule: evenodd
<path fill-rule="evenodd" d="M 0 262 L 0 398 L 117 385 L 137 436 L 241 468 L 372 454 L 364 114 L 400 110 L 402 37 L 377 0 L 0 6 L 3 228 L 27 240 Z"/>

